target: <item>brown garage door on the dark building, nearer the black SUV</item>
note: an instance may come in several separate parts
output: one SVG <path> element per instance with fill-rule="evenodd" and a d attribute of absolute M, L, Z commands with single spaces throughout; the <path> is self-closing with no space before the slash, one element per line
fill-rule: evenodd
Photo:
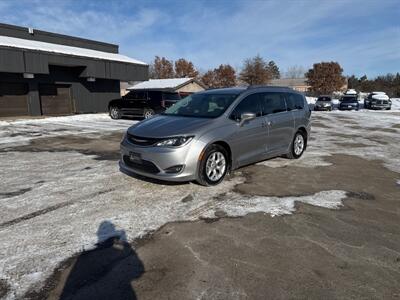
<path fill-rule="evenodd" d="M 39 86 L 43 115 L 72 114 L 71 86 L 46 84 Z"/>

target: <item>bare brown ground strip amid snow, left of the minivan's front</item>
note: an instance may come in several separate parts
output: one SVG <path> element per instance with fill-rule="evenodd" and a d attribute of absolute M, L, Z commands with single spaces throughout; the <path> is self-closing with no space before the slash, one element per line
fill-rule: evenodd
<path fill-rule="evenodd" d="M 85 155 L 94 155 L 97 160 L 118 160 L 119 144 L 123 133 L 115 132 L 98 137 L 65 135 L 50 138 L 37 138 L 29 145 L 7 148 L 6 151 L 19 152 L 64 152 L 76 151 Z"/>

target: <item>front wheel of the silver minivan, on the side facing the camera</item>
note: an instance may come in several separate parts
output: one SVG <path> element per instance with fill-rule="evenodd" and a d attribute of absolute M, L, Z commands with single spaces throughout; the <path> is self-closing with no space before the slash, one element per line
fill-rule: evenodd
<path fill-rule="evenodd" d="M 204 186 L 217 185 L 224 180 L 229 169 L 230 161 L 226 149 L 220 145 L 210 145 L 200 161 L 197 182 Z"/>

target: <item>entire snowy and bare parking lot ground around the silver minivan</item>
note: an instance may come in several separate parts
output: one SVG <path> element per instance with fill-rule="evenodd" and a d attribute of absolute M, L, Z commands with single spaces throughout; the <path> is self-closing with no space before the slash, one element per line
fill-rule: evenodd
<path fill-rule="evenodd" d="M 132 123 L 0 121 L 0 297 L 400 295 L 399 112 L 313 113 L 300 160 L 213 188 L 120 173 Z"/>

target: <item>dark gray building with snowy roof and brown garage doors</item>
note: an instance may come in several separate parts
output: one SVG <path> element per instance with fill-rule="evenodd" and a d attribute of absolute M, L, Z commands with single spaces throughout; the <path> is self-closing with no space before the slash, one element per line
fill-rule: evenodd
<path fill-rule="evenodd" d="M 0 24 L 0 117 L 104 112 L 120 81 L 143 80 L 117 45 Z"/>

